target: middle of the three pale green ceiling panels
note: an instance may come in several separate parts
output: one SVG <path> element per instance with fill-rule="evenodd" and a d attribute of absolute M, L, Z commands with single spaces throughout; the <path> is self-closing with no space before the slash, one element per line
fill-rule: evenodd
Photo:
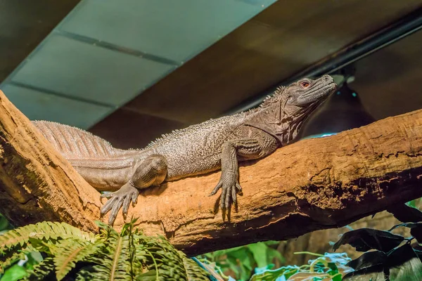
<path fill-rule="evenodd" d="M 53 33 L 21 65 L 11 81 L 118 106 L 173 69 L 172 65 Z"/>

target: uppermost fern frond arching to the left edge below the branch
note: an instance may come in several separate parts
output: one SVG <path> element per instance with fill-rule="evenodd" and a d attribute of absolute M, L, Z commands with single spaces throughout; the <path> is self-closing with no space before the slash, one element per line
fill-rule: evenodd
<path fill-rule="evenodd" d="M 0 235 L 0 253 L 18 245 L 20 247 L 25 247 L 25 244 L 30 242 L 31 239 L 57 240 L 58 238 L 66 239 L 70 237 L 78 237 L 81 240 L 89 242 L 95 241 L 95 235 L 93 233 L 86 233 L 67 223 L 43 221 L 34 225 L 15 228 Z"/>

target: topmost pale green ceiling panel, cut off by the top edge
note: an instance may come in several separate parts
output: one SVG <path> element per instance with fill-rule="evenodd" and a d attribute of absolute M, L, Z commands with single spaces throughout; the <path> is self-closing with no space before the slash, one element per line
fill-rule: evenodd
<path fill-rule="evenodd" d="M 84 0 L 60 30 L 184 62 L 275 0 Z"/>

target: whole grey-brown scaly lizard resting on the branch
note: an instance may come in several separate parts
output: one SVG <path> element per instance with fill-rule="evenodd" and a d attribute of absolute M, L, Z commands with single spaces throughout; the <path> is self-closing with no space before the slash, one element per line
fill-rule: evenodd
<path fill-rule="evenodd" d="M 277 88 L 259 107 L 172 131 L 142 149 L 117 149 L 103 138 L 56 122 L 32 124 L 89 184 L 110 191 L 101 195 L 108 198 L 101 216 L 111 211 L 112 225 L 120 209 L 127 216 L 139 190 L 219 169 L 222 174 L 210 196 L 222 189 L 220 208 L 229 209 L 242 191 L 238 162 L 266 157 L 294 141 L 305 119 L 335 88 L 328 75 L 300 79 Z"/>

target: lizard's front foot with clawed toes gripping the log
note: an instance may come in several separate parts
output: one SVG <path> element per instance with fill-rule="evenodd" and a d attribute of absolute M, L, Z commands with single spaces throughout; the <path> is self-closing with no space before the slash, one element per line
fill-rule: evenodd
<path fill-rule="evenodd" d="M 222 189 L 222 197 L 220 199 L 220 208 L 222 210 L 226 209 L 229 210 L 231 203 L 236 204 L 237 203 L 237 193 L 242 192 L 241 185 L 239 184 L 238 180 L 236 178 L 232 177 L 225 177 L 222 176 L 215 186 L 215 188 L 212 190 L 210 195 L 212 196 L 217 193 L 219 189 Z"/>

